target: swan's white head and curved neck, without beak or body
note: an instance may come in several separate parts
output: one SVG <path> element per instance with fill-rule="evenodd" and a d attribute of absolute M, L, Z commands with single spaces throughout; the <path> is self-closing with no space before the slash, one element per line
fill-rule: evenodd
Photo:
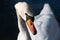
<path fill-rule="evenodd" d="M 19 2 L 15 5 L 17 19 L 18 19 L 18 28 L 20 30 L 17 40 L 31 40 L 28 29 L 26 27 L 26 13 L 29 16 L 33 17 L 33 13 L 30 12 L 28 4 L 26 2 Z"/>

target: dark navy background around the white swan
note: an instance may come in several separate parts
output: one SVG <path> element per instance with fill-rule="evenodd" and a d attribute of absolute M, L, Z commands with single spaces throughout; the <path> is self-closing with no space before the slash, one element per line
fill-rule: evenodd
<path fill-rule="evenodd" d="M 60 23 L 60 0 L 0 0 L 0 40 L 16 40 L 18 35 L 17 17 L 14 5 L 26 1 L 37 15 L 44 3 L 49 3 Z"/>

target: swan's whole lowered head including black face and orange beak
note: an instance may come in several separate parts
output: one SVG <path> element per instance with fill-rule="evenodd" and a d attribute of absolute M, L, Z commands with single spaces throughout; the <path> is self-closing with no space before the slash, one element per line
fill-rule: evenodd
<path fill-rule="evenodd" d="M 36 29 L 34 27 L 34 17 L 31 9 L 29 9 L 26 2 L 19 2 L 15 5 L 17 11 L 17 16 L 21 16 L 24 21 L 26 21 L 28 27 L 33 34 L 36 34 Z"/>

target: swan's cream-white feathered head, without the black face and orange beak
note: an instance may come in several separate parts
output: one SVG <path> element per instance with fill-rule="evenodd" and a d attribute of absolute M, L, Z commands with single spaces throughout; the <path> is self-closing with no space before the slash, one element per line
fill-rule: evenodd
<path fill-rule="evenodd" d="M 31 9 L 29 9 L 28 4 L 26 2 L 18 2 L 17 4 L 15 4 L 15 9 L 18 12 L 17 14 L 20 15 L 25 21 L 26 21 L 25 13 L 27 13 L 30 16 L 33 16 Z"/>

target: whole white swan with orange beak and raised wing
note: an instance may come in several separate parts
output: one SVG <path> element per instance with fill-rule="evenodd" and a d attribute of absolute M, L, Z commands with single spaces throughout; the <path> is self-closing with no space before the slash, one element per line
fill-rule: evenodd
<path fill-rule="evenodd" d="M 59 24 L 48 3 L 44 4 L 34 21 L 28 18 L 33 17 L 33 13 L 26 2 L 18 2 L 15 9 L 20 30 L 17 40 L 58 40 Z M 33 28 L 30 28 L 30 21 Z"/>

